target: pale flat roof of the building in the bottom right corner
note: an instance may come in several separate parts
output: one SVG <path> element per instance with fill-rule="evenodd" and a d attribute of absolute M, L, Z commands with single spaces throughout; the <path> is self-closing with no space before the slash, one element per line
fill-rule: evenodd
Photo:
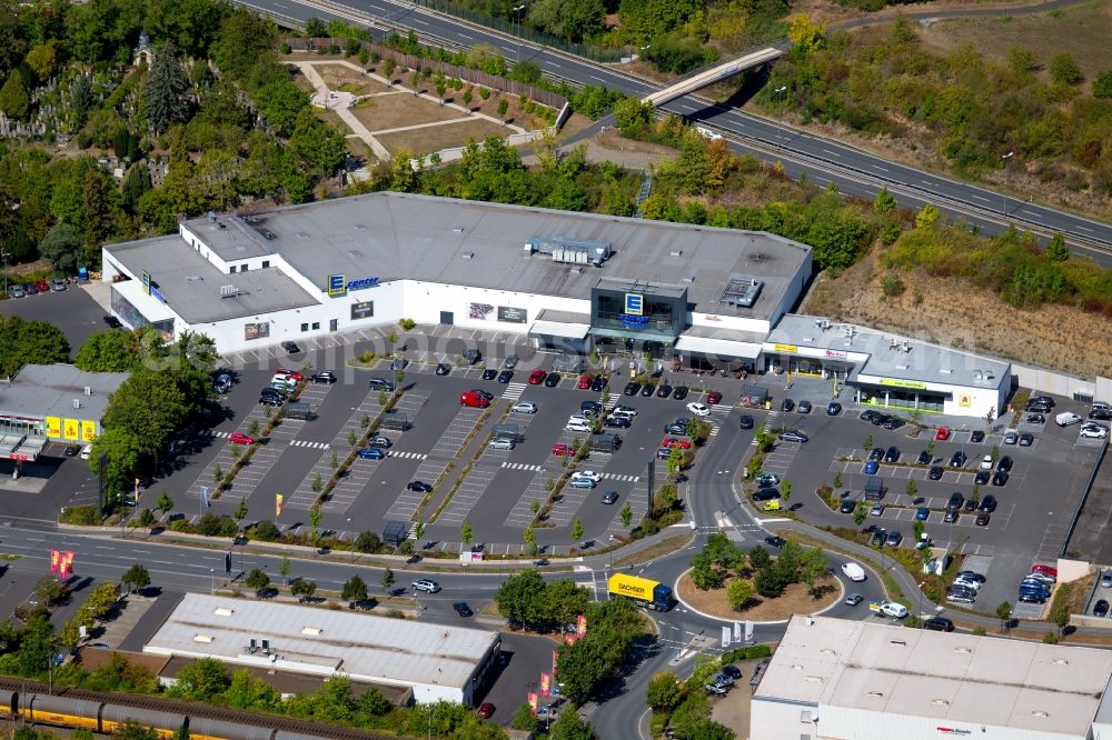
<path fill-rule="evenodd" d="M 1112 652 L 793 617 L 754 701 L 786 701 L 1083 736 Z"/>

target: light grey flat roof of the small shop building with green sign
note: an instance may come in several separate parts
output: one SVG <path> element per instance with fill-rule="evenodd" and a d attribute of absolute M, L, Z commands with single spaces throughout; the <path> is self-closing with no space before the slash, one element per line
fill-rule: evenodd
<path fill-rule="evenodd" d="M 765 344 L 867 353 L 868 359 L 855 370 L 858 376 L 997 388 L 1011 372 L 1011 363 L 1001 360 L 852 323 L 821 323 L 824 321 L 822 317 L 785 313 L 770 332 Z"/>

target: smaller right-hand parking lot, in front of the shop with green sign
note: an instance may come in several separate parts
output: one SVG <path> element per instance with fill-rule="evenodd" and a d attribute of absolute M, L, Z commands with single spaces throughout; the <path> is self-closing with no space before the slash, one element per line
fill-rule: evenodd
<path fill-rule="evenodd" d="M 796 393 L 795 400 L 800 400 Z M 780 399 L 774 399 L 778 406 Z M 1079 438 L 1078 427 L 1061 428 L 1049 421 L 1045 424 L 1023 424 L 1019 431 L 1033 434 L 1027 447 L 1005 444 L 1006 424 L 972 441 L 972 432 L 983 430 L 984 422 L 969 420 L 964 429 L 952 429 L 947 440 L 935 440 L 934 430 L 916 436 L 912 424 L 896 430 L 885 430 L 858 419 L 860 409 L 846 408 L 837 417 L 823 411 L 825 400 L 812 399 L 815 412 L 774 412 L 771 426 L 790 426 L 810 436 L 806 443 L 778 442 L 768 456 L 765 470 L 776 472 L 793 483 L 796 492 L 792 501 L 803 502 L 798 516 L 816 526 L 856 528 L 853 517 L 832 511 L 814 496 L 821 484 L 833 487 L 835 476 L 841 477 L 836 494 L 854 500 L 864 499 L 864 487 L 871 477 L 880 478 L 885 487 L 883 512 L 868 516 L 861 527 L 875 527 L 902 534 L 901 547 L 914 547 L 913 527 L 920 508 L 927 511 L 923 520 L 924 532 L 934 546 L 963 556 L 976 556 L 977 567 L 987 577 L 974 608 L 992 612 L 1002 601 L 1016 603 L 1016 586 L 1034 562 L 1053 562 L 1065 547 L 1065 541 L 1078 511 L 1081 496 L 1098 463 L 1101 446 L 1094 440 Z M 1075 411 L 1084 416 L 1086 408 L 1080 403 L 1059 399 L 1055 412 Z M 931 419 L 924 419 L 930 423 Z M 898 450 L 895 462 L 880 461 L 876 471 L 865 472 L 871 449 L 865 449 L 866 437 L 872 447 L 885 452 L 892 446 Z M 930 462 L 919 463 L 920 454 L 933 442 Z M 979 463 L 996 450 L 996 460 L 1007 456 L 1012 468 L 1003 486 L 986 481 L 975 483 Z M 963 466 L 951 467 L 955 452 L 963 452 Z M 941 466 L 939 480 L 929 478 L 932 466 Z M 995 469 L 995 464 L 993 466 Z M 909 489 L 909 484 L 911 489 Z M 807 496 L 800 496 L 806 491 Z M 953 492 L 963 499 L 995 497 L 995 511 L 985 526 L 977 526 L 977 514 L 961 512 L 955 521 L 944 522 L 946 502 Z M 875 503 L 867 502 L 870 508 Z M 1032 613 L 1027 614 L 1026 612 Z M 1019 604 L 1017 617 L 1035 617 L 1037 606 Z"/>

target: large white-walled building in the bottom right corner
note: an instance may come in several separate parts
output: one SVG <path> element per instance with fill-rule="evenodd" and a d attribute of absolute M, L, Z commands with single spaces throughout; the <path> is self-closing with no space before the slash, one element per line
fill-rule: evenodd
<path fill-rule="evenodd" d="M 1112 652 L 793 617 L 751 740 L 1108 740 Z"/>

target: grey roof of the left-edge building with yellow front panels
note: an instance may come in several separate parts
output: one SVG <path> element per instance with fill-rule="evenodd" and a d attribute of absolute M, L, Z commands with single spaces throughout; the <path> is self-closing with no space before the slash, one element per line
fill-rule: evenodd
<path fill-rule="evenodd" d="M 72 364 L 24 364 L 10 381 L 0 381 L 0 413 L 31 417 L 100 419 L 129 372 L 86 372 Z M 85 394 L 86 387 L 92 392 Z M 81 408 L 73 408 L 73 399 Z"/>

